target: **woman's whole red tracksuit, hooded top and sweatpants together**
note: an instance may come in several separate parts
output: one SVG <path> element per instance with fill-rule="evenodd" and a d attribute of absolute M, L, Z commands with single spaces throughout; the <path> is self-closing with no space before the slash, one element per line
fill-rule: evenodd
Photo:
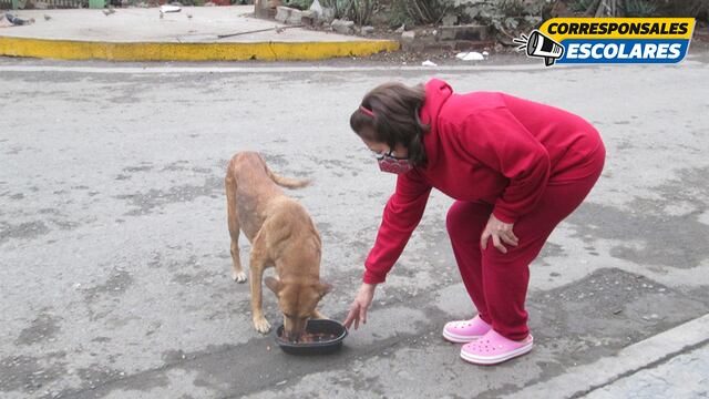
<path fill-rule="evenodd" d="M 528 334 L 528 265 L 554 227 L 586 197 L 605 161 L 598 132 L 566 111 L 497 92 L 425 85 L 425 167 L 399 175 L 384 208 L 364 283 L 382 283 L 435 187 L 458 200 L 446 227 L 463 283 L 481 318 L 510 339 Z M 490 214 L 514 223 L 518 246 L 480 247 Z"/>

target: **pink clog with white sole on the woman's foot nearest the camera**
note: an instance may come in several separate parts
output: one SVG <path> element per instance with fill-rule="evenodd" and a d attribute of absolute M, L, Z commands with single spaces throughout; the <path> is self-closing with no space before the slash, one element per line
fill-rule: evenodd
<path fill-rule="evenodd" d="M 476 365 L 496 365 L 528 352 L 532 350 L 533 344 L 532 335 L 527 335 L 521 341 L 515 341 L 491 329 L 474 342 L 463 345 L 461 357 L 463 360 Z"/>

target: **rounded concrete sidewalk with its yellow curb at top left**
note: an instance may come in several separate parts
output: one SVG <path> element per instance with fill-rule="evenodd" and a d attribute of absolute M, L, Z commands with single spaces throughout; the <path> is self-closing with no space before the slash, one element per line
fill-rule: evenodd
<path fill-rule="evenodd" d="M 394 51 L 399 43 L 290 28 L 250 17 L 253 6 L 10 11 L 30 25 L 0 21 L 0 55 L 61 60 L 321 60 Z M 49 17 L 49 20 L 45 19 Z M 277 31 L 276 28 L 287 28 Z M 268 31 L 254 32 L 258 30 Z M 244 33 L 229 38 L 222 34 Z"/>

